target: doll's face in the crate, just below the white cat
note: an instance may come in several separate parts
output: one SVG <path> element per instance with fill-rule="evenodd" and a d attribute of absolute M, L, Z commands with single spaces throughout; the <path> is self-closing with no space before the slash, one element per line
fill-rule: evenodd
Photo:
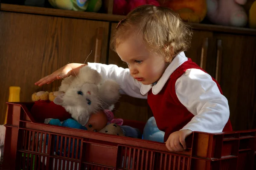
<path fill-rule="evenodd" d="M 107 123 L 108 118 L 104 111 L 98 111 L 90 115 L 90 118 L 85 127 L 87 127 L 87 130 L 89 131 L 99 132 L 107 125 Z"/>

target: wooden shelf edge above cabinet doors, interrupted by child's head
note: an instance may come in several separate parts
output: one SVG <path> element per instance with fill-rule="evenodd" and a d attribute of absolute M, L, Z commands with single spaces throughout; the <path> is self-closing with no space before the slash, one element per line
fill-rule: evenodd
<path fill-rule="evenodd" d="M 84 12 L 84 11 L 69 11 L 63 9 L 55 8 L 42 8 L 34 6 L 20 6 L 20 5 L 11 5 L 11 4 L 1 4 L 0 11 L 9 11 L 9 12 L 20 12 L 27 14 L 41 14 L 49 16 L 59 16 L 59 17 L 71 17 L 71 18 L 80 18 L 80 19 L 89 19 L 89 20 L 103 20 L 111 22 L 119 22 L 125 18 L 123 15 L 114 15 L 114 14 L 102 14 L 95 12 Z M 215 31 L 215 32 L 225 32 L 230 34 L 243 34 L 243 35 L 256 35 L 256 29 L 251 28 L 237 28 L 230 26 L 218 26 L 212 24 L 201 24 L 201 23 L 187 23 L 192 26 L 194 30 L 201 31 Z"/>

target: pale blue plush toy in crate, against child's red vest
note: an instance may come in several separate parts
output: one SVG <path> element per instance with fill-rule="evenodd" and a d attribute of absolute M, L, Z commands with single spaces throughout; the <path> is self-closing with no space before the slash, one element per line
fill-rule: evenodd
<path fill-rule="evenodd" d="M 149 118 L 143 130 L 143 139 L 155 142 L 163 142 L 164 134 L 165 133 L 163 131 L 158 129 L 154 117 Z"/>

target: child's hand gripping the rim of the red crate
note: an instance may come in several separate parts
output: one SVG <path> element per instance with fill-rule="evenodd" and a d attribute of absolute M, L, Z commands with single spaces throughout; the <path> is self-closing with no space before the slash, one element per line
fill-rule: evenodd
<path fill-rule="evenodd" d="M 186 149 L 185 139 L 189 134 L 192 133 L 191 130 L 179 130 L 170 134 L 166 141 L 166 147 L 171 152 L 180 152 Z"/>

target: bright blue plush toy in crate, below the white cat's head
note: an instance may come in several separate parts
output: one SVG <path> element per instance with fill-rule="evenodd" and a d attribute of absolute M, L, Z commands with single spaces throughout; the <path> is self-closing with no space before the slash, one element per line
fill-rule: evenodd
<path fill-rule="evenodd" d="M 78 122 L 76 122 L 76 120 L 74 119 L 67 119 L 64 120 L 64 122 L 61 123 L 61 121 L 59 119 L 51 119 L 49 121 L 49 125 L 57 125 L 57 126 L 63 126 L 63 127 L 72 127 L 72 128 L 76 128 L 76 129 L 82 129 L 82 130 L 87 130 L 86 127 L 82 126 L 81 124 L 79 124 Z M 75 139 L 73 141 L 73 139 L 71 138 L 71 142 L 70 142 L 70 146 L 73 146 L 73 142 L 75 142 L 75 146 L 74 146 L 74 151 L 73 151 L 73 147 L 70 147 L 70 155 L 68 154 L 68 143 L 69 143 L 69 138 L 63 138 L 62 139 L 62 153 L 59 152 L 59 150 L 61 149 L 61 139 L 59 138 L 58 140 L 58 150 L 56 151 L 56 145 L 57 145 L 57 136 L 55 136 L 54 139 L 54 151 L 56 152 L 57 155 L 61 155 L 64 156 L 64 144 L 65 144 L 65 140 L 67 140 L 67 146 L 66 146 L 66 155 L 67 157 L 72 157 L 76 156 L 76 147 L 77 147 L 77 139 Z M 48 142 L 48 136 L 47 136 L 47 142 Z M 78 150 L 78 158 L 80 156 L 80 147 L 81 147 L 81 141 L 79 141 L 78 144 L 79 150 Z"/>

